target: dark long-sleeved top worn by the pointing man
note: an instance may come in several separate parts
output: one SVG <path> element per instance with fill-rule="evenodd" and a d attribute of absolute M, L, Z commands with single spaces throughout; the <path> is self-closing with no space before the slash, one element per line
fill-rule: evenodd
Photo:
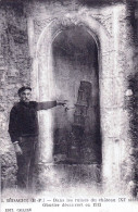
<path fill-rule="evenodd" d="M 16 103 L 10 113 L 9 134 L 12 142 L 18 141 L 20 137 L 38 136 L 37 111 L 51 109 L 57 101 L 36 102 L 29 101 Z"/>

